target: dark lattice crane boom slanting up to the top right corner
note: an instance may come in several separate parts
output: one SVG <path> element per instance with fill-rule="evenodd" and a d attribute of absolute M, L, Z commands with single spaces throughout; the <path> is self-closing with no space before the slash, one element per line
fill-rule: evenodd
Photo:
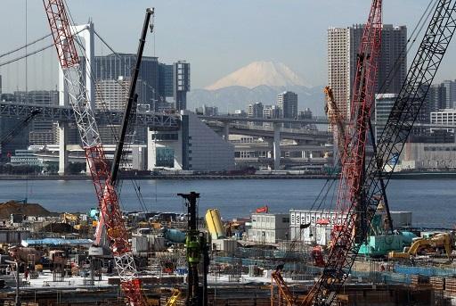
<path fill-rule="evenodd" d="M 444 58 L 455 29 L 456 0 L 438 0 L 426 34 L 395 100 L 385 129 L 378 139 L 376 154 L 366 163 L 365 169 L 364 166 L 362 167 L 363 172 L 358 187 L 362 192 L 366 227 L 370 226 L 384 188 L 391 178 L 392 171 L 387 171 L 387 167 L 390 167 L 388 164 L 402 153 L 403 145 L 411 133 L 411 128 L 418 117 L 421 105 L 426 99 L 428 89 L 436 76 L 436 71 Z M 354 95 L 356 94 L 354 93 Z M 391 164 L 394 169 L 395 162 Z M 354 191 L 357 190 L 354 189 Z M 360 244 L 356 243 L 352 233 L 354 229 L 357 229 L 355 224 L 359 216 L 357 209 L 359 198 L 354 196 L 357 194 L 356 192 L 349 194 L 351 197 L 347 200 L 350 209 L 346 211 L 343 230 L 333 241 L 322 277 L 307 294 L 303 305 L 330 305 L 354 264 L 360 248 Z M 366 233 L 357 233 L 357 236 L 360 234 L 364 235 L 361 237 L 364 240 Z"/>

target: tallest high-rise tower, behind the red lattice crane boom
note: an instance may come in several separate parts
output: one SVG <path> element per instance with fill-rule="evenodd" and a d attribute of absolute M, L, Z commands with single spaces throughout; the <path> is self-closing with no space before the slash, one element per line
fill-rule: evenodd
<path fill-rule="evenodd" d="M 328 84 L 341 113 L 349 116 L 351 89 L 363 25 L 328 29 Z M 407 28 L 383 25 L 376 94 L 398 94 L 407 74 Z"/>

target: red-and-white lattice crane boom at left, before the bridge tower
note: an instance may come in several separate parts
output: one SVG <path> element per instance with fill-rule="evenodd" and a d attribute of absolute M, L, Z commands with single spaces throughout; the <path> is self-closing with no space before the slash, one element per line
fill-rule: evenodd
<path fill-rule="evenodd" d="M 82 78 L 80 59 L 64 2 L 63 0 L 43 0 L 43 4 L 65 83 L 68 86 L 69 103 L 75 113 L 77 129 L 94 182 L 101 215 L 107 228 L 122 290 L 130 305 L 147 305 L 142 296 L 141 283 L 137 278 L 118 195 L 111 183 L 110 170 L 94 118 L 94 110 L 89 103 L 85 84 L 81 81 L 84 78 Z"/>

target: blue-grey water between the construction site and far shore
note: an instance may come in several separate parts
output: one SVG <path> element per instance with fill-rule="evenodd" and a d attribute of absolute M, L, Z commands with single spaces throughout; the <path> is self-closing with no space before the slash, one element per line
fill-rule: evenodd
<path fill-rule="evenodd" d="M 311 208 L 324 183 L 323 179 L 137 181 L 148 211 L 184 211 L 176 194 L 196 191 L 201 194 L 199 213 L 218 208 L 224 219 L 248 216 L 263 205 L 272 212 Z M 387 190 L 391 210 L 412 211 L 414 226 L 454 226 L 456 179 L 395 179 Z M 20 200 L 26 194 L 28 203 L 40 203 L 50 211 L 85 212 L 96 205 L 90 180 L 0 181 L 1 202 Z M 327 208 L 334 202 L 332 195 L 328 194 Z M 128 211 L 142 210 L 129 180 L 124 182 L 121 200 Z"/>

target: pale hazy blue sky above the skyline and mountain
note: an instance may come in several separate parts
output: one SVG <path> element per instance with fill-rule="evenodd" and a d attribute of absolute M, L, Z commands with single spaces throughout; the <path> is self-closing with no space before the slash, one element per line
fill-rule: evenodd
<path fill-rule="evenodd" d="M 409 33 L 430 0 L 384 0 L 384 23 L 406 25 Z M 435 0 L 434 0 L 435 1 Z M 148 37 L 145 55 L 160 62 L 191 62 L 191 86 L 206 87 L 254 61 L 283 62 L 314 86 L 326 84 L 326 31 L 367 20 L 368 0 L 66 0 L 77 23 L 92 18 L 97 32 L 117 51 L 135 53 L 145 8 L 156 10 L 155 37 Z M 0 54 L 49 32 L 40 0 L 1 0 Z M 27 18 L 26 18 L 27 11 Z M 6 13 L 7 12 L 7 13 Z M 154 43 L 155 42 L 155 43 Z M 456 46 L 449 48 L 437 80 L 456 79 Z M 109 54 L 95 43 L 96 54 Z M 412 55 L 412 54 L 411 54 Z M 29 60 L 28 84 L 53 83 L 54 51 Z M 411 62 L 409 56 L 409 62 Z M 0 57 L 0 63 L 4 58 Z M 30 64 L 33 62 L 33 64 Z M 41 70 L 41 66 L 45 69 Z M 38 68 L 37 68 L 38 66 Z M 23 61 L 0 67 L 7 82 L 21 82 Z M 39 70 L 31 73 L 30 70 Z M 5 84 L 4 80 L 4 84 Z M 48 84 L 47 84 L 48 85 Z M 22 86 L 21 84 L 19 86 Z M 48 85 L 49 86 L 49 85 Z"/>

